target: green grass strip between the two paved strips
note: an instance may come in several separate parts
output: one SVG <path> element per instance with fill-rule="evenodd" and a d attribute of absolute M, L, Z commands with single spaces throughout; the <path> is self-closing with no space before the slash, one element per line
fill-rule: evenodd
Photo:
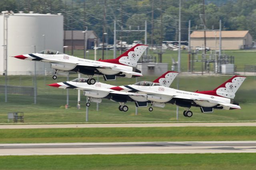
<path fill-rule="evenodd" d="M 0 143 L 253 141 L 256 127 L 0 129 Z"/>

